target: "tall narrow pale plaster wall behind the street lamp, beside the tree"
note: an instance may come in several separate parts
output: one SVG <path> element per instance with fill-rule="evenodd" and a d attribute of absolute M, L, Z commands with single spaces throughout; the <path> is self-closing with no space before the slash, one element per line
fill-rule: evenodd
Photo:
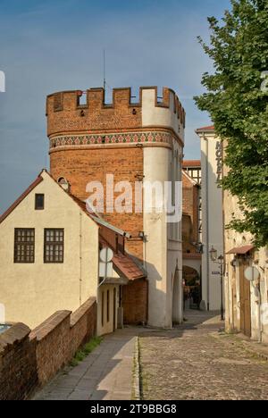
<path fill-rule="evenodd" d="M 214 135 L 201 138 L 201 167 L 202 167 L 202 241 L 204 254 L 202 255 L 202 298 L 205 304 L 209 302 L 211 311 L 221 307 L 221 278 L 213 275 L 219 271 L 219 265 L 210 260 L 209 251 L 212 246 L 223 255 L 223 216 L 222 216 L 222 188 L 216 184 L 216 143 L 219 140 Z M 207 218 L 208 222 L 207 222 Z M 208 245 L 207 245 L 208 240 Z M 209 288 L 209 294 L 208 294 Z"/>

